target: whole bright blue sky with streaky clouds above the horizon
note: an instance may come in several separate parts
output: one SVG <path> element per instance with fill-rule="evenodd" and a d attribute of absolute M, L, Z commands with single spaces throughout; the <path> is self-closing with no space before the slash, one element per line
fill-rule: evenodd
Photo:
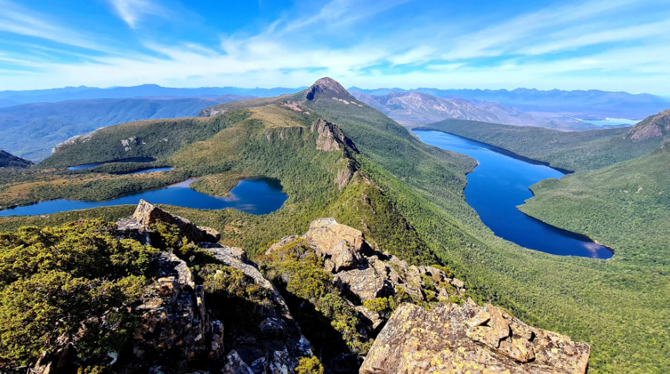
<path fill-rule="evenodd" d="M 603 89 L 670 96 L 670 0 L 0 0 L 0 90 Z"/>

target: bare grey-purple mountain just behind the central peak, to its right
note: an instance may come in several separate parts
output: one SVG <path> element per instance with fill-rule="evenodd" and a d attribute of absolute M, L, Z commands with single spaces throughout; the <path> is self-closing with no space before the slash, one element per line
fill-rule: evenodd
<path fill-rule="evenodd" d="M 358 100 L 405 125 L 425 124 L 444 119 L 466 119 L 515 126 L 539 126 L 560 130 L 603 128 L 569 117 L 534 115 L 517 111 L 499 103 L 476 98 L 440 98 L 427 93 L 392 91 L 383 96 L 352 92 Z M 608 126 L 612 127 L 612 126 Z"/>

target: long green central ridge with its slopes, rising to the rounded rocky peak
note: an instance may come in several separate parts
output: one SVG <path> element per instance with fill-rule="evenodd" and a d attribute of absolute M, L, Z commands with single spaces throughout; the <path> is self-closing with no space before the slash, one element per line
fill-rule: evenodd
<path fill-rule="evenodd" d="M 667 263 L 649 263 L 639 251 L 608 242 L 614 258 L 599 261 L 551 256 L 497 238 L 464 200 L 465 173 L 474 160 L 426 146 L 336 82 L 319 80 L 294 95 L 240 101 L 201 114 L 212 117 L 129 123 L 79 138 L 41 163 L 40 170 L 0 180 L 0 199 L 13 196 L 29 203 L 87 193 L 100 198 L 111 186 L 127 191 L 190 176 L 204 177 L 195 188 L 222 194 L 245 176 L 279 178 L 289 200 L 266 216 L 231 209 L 169 210 L 216 228 L 223 243 L 252 254 L 282 236 L 306 231 L 314 218 L 331 216 L 401 258 L 448 266 L 477 300 L 491 300 L 528 323 L 590 343 L 589 373 L 670 370 L 664 353 L 670 334 Z M 321 118 L 344 132 L 339 149 L 316 146 L 319 131 L 312 128 Z M 129 138 L 134 140 L 126 150 L 121 141 Z M 136 156 L 152 156 L 175 169 L 161 177 L 130 178 L 64 170 Z M 0 218 L 0 231 L 91 214 L 113 219 L 130 210 Z"/>

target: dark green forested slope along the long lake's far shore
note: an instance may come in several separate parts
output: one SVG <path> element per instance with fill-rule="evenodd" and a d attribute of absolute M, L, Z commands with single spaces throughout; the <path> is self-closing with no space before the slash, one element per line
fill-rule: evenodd
<path fill-rule="evenodd" d="M 630 128 L 557 131 L 459 119 L 431 123 L 421 129 L 453 133 L 571 171 L 594 170 L 630 160 L 659 148 L 662 141 L 631 141 L 626 136 Z"/>

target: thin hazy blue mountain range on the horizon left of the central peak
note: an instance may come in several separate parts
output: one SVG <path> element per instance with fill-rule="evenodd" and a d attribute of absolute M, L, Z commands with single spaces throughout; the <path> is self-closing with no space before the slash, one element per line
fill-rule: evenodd
<path fill-rule="evenodd" d="M 304 89 L 301 88 L 301 89 Z M 4 101 L 14 103 L 55 103 L 65 100 L 79 100 L 90 98 L 134 98 L 134 97 L 214 97 L 222 95 L 240 96 L 279 96 L 284 93 L 294 93 L 301 89 L 241 89 L 239 87 L 201 87 L 196 89 L 174 89 L 161 87 L 156 84 L 143 84 L 132 87 L 112 87 L 99 89 L 96 87 L 64 87 L 61 89 L 29 90 L 29 91 L 0 91 L 0 107 Z"/>

